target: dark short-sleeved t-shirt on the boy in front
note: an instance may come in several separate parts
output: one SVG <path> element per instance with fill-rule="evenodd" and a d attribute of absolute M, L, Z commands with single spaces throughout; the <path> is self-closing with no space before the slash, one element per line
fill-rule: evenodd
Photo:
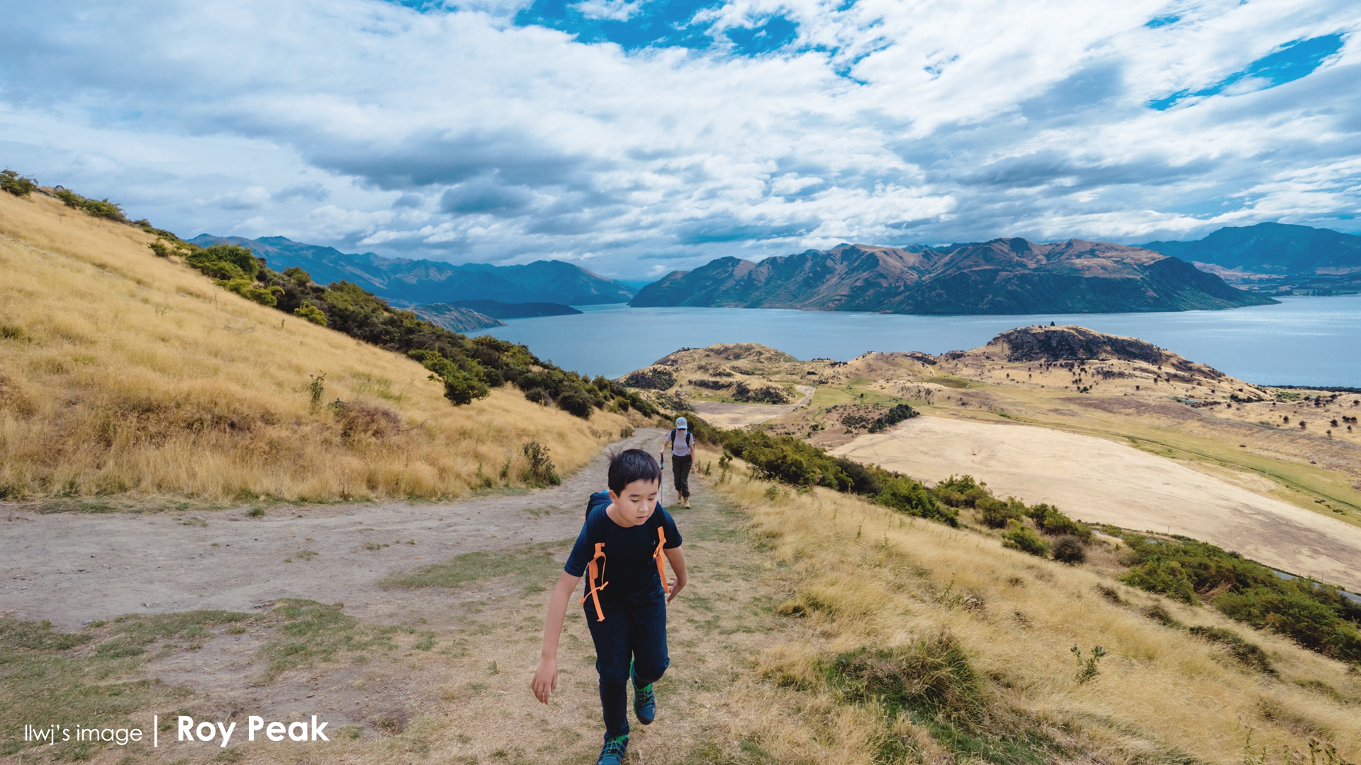
<path fill-rule="evenodd" d="M 568 564 L 562 570 L 572 576 L 583 576 L 587 564 L 595 555 L 597 542 L 604 542 L 604 581 L 610 587 L 600 589 L 600 598 L 611 600 L 626 600 L 629 598 L 652 593 L 661 589 L 661 577 L 657 576 L 657 562 L 652 558 L 657 550 L 657 528 L 667 535 L 664 547 L 667 550 L 680 546 L 680 531 L 671 513 L 660 504 L 652 512 L 646 523 L 623 528 L 610 520 L 604 512 L 610 506 L 610 495 L 597 491 L 591 495 L 587 506 L 587 520 L 581 524 L 581 534 L 577 543 L 568 555 Z M 589 587 L 589 585 L 588 585 Z"/>

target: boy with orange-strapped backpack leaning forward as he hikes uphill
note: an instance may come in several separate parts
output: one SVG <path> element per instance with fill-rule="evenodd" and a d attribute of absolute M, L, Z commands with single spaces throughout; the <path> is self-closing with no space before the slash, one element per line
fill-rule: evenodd
<path fill-rule="evenodd" d="M 652 683 L 671 664 L 667 656 L 667 603 L 686 585 L 685 554 L 675 520 L 657 505 L 661 467 L 642 449 L 610 460 L 608 491 L 587 504 L 587 520 L 548 599 L 543 651 L 534 671 L 534 696 L 547 704 L 558 687 L 558 637 L 581 576 L 587 576 L 587 625 L 600 672 L 604 747 L 596 765 L 619 765 L 629 747 L 629 691 L 633 713 L 646 726 L 656 713 Z M 608 566 L 606 566 L 608 559 Z M 664 561 L 675 576 L 666 579 Z M 608 573 L 608 579 L 606 574 Z"/>

